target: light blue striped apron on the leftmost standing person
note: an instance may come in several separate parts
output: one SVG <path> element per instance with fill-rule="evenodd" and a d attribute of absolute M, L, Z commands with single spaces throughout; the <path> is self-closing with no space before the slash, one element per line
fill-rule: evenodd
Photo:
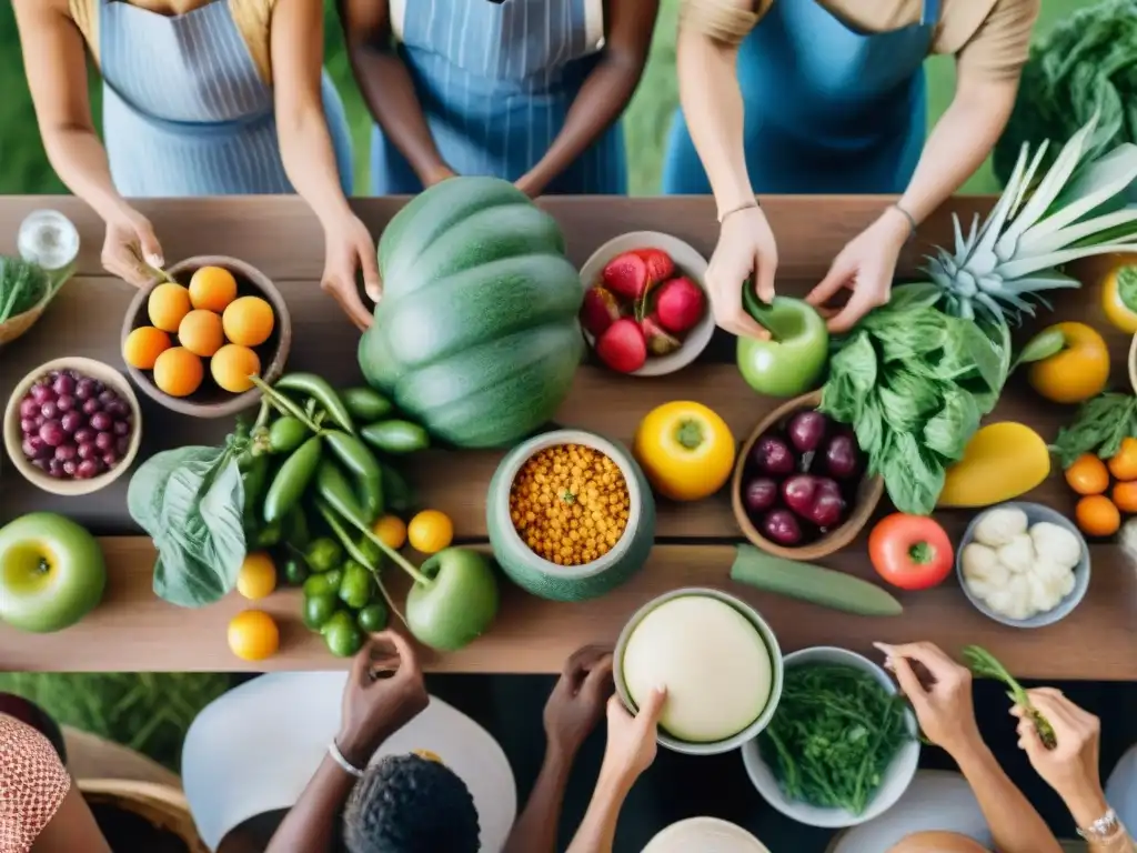
<path fill-rule="evenodd" d="M 260 77 L 229 2 L 167 17 L 100 0 L 102 131 L 110 175 L 127 197 L 292 192 L 273 90 Z M 351 138 L 323 77 L 340 183 L 351 192 Z"/>

